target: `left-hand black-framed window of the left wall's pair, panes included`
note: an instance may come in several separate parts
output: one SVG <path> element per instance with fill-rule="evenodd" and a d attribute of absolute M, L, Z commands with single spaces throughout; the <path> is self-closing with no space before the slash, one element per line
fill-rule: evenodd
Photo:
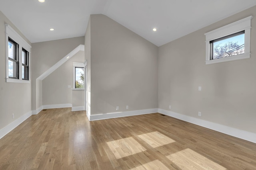
<path fill-rule="evenodd" d="M 8 39 L 8 76 L 19 78 L 19 45 L 12 39 Z"/>

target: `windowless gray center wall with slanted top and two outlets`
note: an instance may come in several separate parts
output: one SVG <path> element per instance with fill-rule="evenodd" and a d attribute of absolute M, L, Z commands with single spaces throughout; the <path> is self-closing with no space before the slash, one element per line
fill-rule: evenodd
<path fill-rule="evenodd" d="M 91 115 L 157 108 L 158 47 L 102 14 L 90 32 Z"/>

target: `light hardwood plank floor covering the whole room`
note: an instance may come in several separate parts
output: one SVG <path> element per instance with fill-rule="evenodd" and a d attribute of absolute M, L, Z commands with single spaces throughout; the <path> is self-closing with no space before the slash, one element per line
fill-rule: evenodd
<path fill-rule="evenodd" d="M 159 113 L 47 109 L 0 139 L 0 170 L 256 170 L 256 144 Z"/>

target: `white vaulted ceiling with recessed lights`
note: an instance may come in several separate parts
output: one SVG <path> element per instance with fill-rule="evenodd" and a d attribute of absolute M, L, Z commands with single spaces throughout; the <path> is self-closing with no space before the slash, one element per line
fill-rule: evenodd
<path fill-rule="evenodd" d="M 90 14 L 104 14 L 160 46 L 254 5 L 256 0 L 0 0 L 0 11 L 32 43 L 84 36 Z"/>

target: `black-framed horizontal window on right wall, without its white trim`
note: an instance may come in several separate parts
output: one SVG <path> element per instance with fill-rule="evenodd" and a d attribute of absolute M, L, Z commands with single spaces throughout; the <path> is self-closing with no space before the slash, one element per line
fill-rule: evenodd
<path fill-rule="evenodd" d="M 210 60 L 244 54 L 244 31 L 210 41 Z"/>

